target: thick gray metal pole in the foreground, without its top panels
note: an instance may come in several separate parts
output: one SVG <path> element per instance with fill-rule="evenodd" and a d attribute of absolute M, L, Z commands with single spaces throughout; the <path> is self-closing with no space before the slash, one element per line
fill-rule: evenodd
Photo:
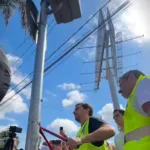
<path fill-rule="evenodd" d="M 25 150 L 38 150 L 44 60 L 47 44 L 47 9 L 47 0 L 42 0 Z"/>

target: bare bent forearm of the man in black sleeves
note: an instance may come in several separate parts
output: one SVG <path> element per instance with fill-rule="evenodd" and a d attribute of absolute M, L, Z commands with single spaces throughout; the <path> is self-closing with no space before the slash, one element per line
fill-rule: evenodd
<path fill-rule="evenodd" d="M 115 135 L 115 130 L 108 124 L 90 133 L 81 139 L 82 143 L 92 143 L 107 140 Z"/>

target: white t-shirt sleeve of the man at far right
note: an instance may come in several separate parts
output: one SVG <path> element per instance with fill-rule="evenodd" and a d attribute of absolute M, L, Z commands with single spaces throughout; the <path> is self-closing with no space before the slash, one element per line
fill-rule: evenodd
<path fill-rule="evenodd" d="M 141 80 L 136 89 L 135 101 L 133 108 L 141 115 L 147 116 L 142 108 L 142 105 L 146 102 L 150 102 L 150 79 L 145 78 Z"/>

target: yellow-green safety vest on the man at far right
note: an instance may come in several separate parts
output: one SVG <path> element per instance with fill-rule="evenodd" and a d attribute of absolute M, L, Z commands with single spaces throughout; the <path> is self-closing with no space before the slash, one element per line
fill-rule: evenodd
<path fill-rule="evenodd" d="M 150 126 L 150 117 L 143 116 L 136 112 L 133 108 L 133 103 L 136 100 L 136 89 L 141 80 L 144 78 L 150 78 L 146 76 L 140 76 L 136 82 L 136 85 L 128 98 L 126 111 L 124 114 L 124 134 L 128 134 L 136 129 Z M 142 137 L 141 139 L 135 139 L 125 143 L 124 150 L 150 150 L 150 136 Z"/>

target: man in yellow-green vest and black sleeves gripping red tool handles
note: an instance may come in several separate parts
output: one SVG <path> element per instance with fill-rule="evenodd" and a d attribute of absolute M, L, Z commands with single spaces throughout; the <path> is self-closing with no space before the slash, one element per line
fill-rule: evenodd
<path fill-rule="evenodd" d="M 77 137 L 68 138 L 67 144 L 77 150 L 106 150 L 105 140 L 115 135 L 113 127 L 92 117 L 93 108 L 87 103 L 77 104 L 73 114 L 81 127 Z"/>

